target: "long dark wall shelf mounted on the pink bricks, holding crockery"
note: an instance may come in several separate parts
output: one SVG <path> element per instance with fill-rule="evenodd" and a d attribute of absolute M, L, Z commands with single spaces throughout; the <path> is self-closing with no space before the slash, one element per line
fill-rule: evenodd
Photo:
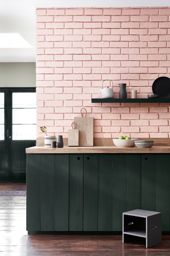
<path fill-rule="evenodd" d="M 114 98 L 92 98 L 92 103 L 170 103 L 170 98 L 137 98 L 137 99 L 114 99 Z"/>

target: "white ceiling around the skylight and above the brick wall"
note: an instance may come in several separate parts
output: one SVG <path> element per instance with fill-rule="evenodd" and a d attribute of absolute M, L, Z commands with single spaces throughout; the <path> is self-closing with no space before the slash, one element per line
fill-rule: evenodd
<path fill-rule="evenodd" d="M 61 4 L 62 3 L 62 4 Z M 0 0 L 0 33 L 19 33 L 34 48 L 0 49 L 0 62 L 35 61 L 36 7 L 157 7 L 170 0 Z"/>

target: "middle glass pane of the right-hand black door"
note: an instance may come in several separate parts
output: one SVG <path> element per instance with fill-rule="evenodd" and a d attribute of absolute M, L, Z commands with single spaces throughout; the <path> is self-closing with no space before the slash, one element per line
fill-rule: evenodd
<path fill-rule="evenodd" d="M 35 124 L 36 123 L 35 108 L 13 108 L 12 123 L 13 124 Z"/>

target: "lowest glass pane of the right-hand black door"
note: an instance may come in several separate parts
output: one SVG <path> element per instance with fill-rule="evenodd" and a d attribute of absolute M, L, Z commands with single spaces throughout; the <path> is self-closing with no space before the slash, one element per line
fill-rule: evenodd
<path fill-rule="evenodd" d="M 13 140 L 36 139 L 36 124 L 13 124 Z"/>

